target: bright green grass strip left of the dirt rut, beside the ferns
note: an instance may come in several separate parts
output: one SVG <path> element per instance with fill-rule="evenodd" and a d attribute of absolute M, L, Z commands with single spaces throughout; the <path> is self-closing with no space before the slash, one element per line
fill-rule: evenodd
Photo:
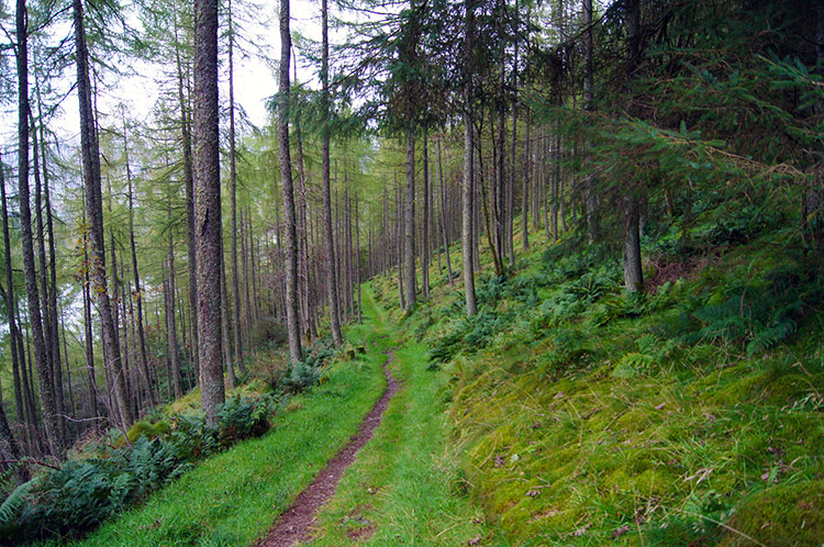
<path fill-rule="evenodd" d="M 279 410 L 270 433 L 209 458 L 142 506 L 70 545 L 252 545 L 355 434 L 382 393 L 379 328 L 379 323 L 350 328 L 348 336 L 369 351 L 332 365 L 327 381 Z"/>

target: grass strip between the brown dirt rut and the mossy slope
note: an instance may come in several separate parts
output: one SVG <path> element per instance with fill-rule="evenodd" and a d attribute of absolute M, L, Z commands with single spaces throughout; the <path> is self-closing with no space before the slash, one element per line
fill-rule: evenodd
<path fill-rule="evenodd" d="M 365 302 L 375 313 L 371 295 Z M 469 484 L 457 465 L 461 447 L 447 435 L 449 379 L 426 370 L 424 345 L 393 337 L 399 349 L 391 370 L 403 388 L 321 511 L 312 547 L 452 546 L 491 535 L 469 502 Z"/>

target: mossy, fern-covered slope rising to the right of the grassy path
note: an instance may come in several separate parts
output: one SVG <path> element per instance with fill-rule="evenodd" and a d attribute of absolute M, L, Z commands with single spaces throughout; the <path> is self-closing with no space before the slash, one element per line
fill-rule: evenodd
<path fill-rule="evenodd" d="M 450 375 L 464 480 L 505 544 L 824 542 L 822 287 L 775 242 L 647 242 L 655 287 L 627 294 L 570 237 L 481 276 L 474 317 L 443 277 L 400 317 Z M 400 316 L 393 279 L 372 286 Z"/>

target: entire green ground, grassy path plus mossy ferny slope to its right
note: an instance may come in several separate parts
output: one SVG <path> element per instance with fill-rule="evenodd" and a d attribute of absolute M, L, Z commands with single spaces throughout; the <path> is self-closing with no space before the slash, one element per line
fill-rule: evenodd
<path fill-rule="evenodd" d="M 412 313 L 379 276 L 364 354 L 77 545 L 822 545 L 824 288 L 759 241 L 706 254 L 627 294 L 612 255 L 535 244 L 472 317 L 447 276 Z"/>

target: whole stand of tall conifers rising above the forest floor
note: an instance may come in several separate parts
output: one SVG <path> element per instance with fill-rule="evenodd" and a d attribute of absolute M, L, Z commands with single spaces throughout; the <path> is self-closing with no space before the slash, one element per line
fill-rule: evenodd
<path fill-rule="evenodd" d="M 67 41 L 56 23 L 68 12 L 37 5 L 29 21 L 18 1 L 13 31 L 0 24 L 16 55 L 19 133 L 2 150 L 16 154 L 18 179 L 4 199 L 3 355 L 21 450 L 59 454 L 87 427 L 129 426 L 198 384 L 214 420 L 223 375 L 247 376 L 272 331 L 286 327 L 292 364 L 327 334 L 343 345 L 370 276 L 391 275 L 403 309 L 431 289 L 456 290 L 477 314 L 488 305 L 479 276 L 519 268 L 536 234 L 612 254 L 622 264 L 613 281 L 623 274 L 642 291 L 643 254 L 660 252 L 645 233 L 669 230 L 688 248 L 695 219 L 721 214 L 724 200 L 794 192 L 797 243 L 813 256 L 819 20 L 768 4 L 781 33 L 750 32 L 765 29 L 764 12 L 739 2 L 399 0 L 382 10 L 363 0 L 352 7 L 372 15 L 344 24 L 350 35 L 333 44 L 330 21 L 346 12 L 323 3 L 321 43 L 292 51 L 318 70 L 312 89 L 290 78 L 285 2 L 274 123 L 253 127 L 234 97 L 242 4 L 227 5 L 219 51 L 214 3 L 198 3 L 208 25 L 186 3 L 127 8 L 141 29 L 121 33 L 132 12 L 74 0 Z M 732 45 L 701 25 L 723 27 Z M 81 163 L 49 133 L 68 92 L 56 89 L 68 45 Z M 748 53 L 730 57 L 730 47 Z M 112 48 L 126 63 L 98 64 Z M 229 62 L 223 105 L 218 55 Z M 159 97 L 125 115 L 96 90 L 118 77 L 110 65 L 138 56 L 160 68 Z M 481 271 L 486 253 L 492 267 Z"/>

